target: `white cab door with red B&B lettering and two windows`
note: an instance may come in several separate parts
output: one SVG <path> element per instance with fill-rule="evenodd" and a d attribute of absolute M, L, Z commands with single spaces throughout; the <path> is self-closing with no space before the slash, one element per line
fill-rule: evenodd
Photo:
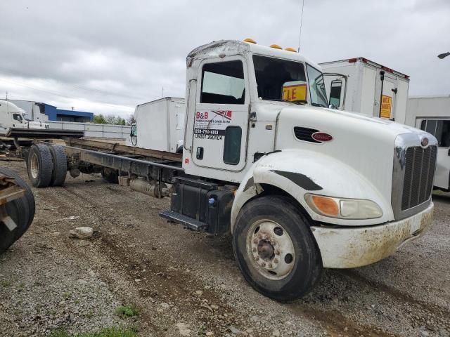
<path fill-rule="evenodd" d="M 192 160 L 198 166 L 240 171 L 250 104 L 245 62 L 238 56 L 205 60 L 199 71 Z"/>

